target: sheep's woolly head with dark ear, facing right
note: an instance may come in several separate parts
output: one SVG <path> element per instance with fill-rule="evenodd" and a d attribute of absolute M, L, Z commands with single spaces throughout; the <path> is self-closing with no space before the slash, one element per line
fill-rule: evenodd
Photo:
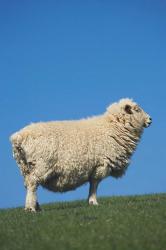
<path fill-rule="evenodd" d="M 117 121 L 125 126 L 142 129 L 147 128 L 152 123 L 152 118 L 141 107 L 131 99 L 121 99 L 118 103 L 108 107 L 107 112 L 117 118 Z"/>

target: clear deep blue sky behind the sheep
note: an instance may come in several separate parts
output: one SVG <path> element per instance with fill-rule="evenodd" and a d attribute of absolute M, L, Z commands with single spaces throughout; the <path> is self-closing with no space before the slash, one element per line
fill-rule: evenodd
<path fill-rule="evenodd" d="M 153 118 L 122 179 L 98 195 L 166 192 L 166 2 L 0 1 L 0 207 L 23 206 L 9 136 L 37 121 L 79 119 L 132 97 Z M 85 199 L 39 188 L 39 202 Z"/>

